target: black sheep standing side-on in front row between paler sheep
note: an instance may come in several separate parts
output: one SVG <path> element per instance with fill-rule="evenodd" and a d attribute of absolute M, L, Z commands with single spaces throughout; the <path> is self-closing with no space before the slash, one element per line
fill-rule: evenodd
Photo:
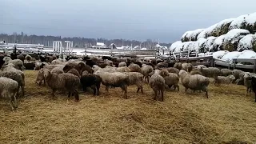
<path fill-rule="evenodd" d="M 101 86 L 102 78 L 95 74 L 84 74 L 80 78 L 83 91 L 86 92 L 86 88 L 90 87 L 94 90 L 94 95 L 99 95 L 99 88 Z"/>

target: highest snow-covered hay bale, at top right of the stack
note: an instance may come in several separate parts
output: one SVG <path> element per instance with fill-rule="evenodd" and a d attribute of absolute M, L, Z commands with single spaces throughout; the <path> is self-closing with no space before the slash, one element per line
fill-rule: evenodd
<path fill-rule="evenodd" d="M 229 27 L 229 30 L 233 29 L 246 29 L 251 34 L 254 34 L 254 30 L 256 30 L 256 13 L 244 14 L 235 18 Z"/>

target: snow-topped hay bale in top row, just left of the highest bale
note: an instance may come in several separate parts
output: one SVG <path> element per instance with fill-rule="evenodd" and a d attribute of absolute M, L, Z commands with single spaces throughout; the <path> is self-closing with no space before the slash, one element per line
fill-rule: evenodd
<path fill-rule="evenodd" d="M 229 31 L 231 22 L 234 21 L 234 18 L 224 19 L 221 22 L 218 22 L 217 26 L 213 30 L 213 36 L 219 37 L 222 34 L 226 34 Z"/>

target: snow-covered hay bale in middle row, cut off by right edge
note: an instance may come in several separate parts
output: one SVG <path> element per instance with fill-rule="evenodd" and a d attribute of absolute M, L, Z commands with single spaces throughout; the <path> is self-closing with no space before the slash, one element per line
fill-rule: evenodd
<path fill-rule="evenodd" d="M 256 50 L 256 34 L 247 34 L 238 43 L 238 51 Z"/>

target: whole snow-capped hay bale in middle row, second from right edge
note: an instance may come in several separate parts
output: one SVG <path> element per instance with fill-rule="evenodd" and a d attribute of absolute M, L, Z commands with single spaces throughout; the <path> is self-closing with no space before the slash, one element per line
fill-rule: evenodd
<path fill-rule="evenodd" d="M 224 38 L 224 50 L 235 51 L 238 47 L 238 42 L 240 39 L 245 37 L 247 34 L 250 34 L 249 30 L 243 29 L 233 29 L 226 33 Z"/>

